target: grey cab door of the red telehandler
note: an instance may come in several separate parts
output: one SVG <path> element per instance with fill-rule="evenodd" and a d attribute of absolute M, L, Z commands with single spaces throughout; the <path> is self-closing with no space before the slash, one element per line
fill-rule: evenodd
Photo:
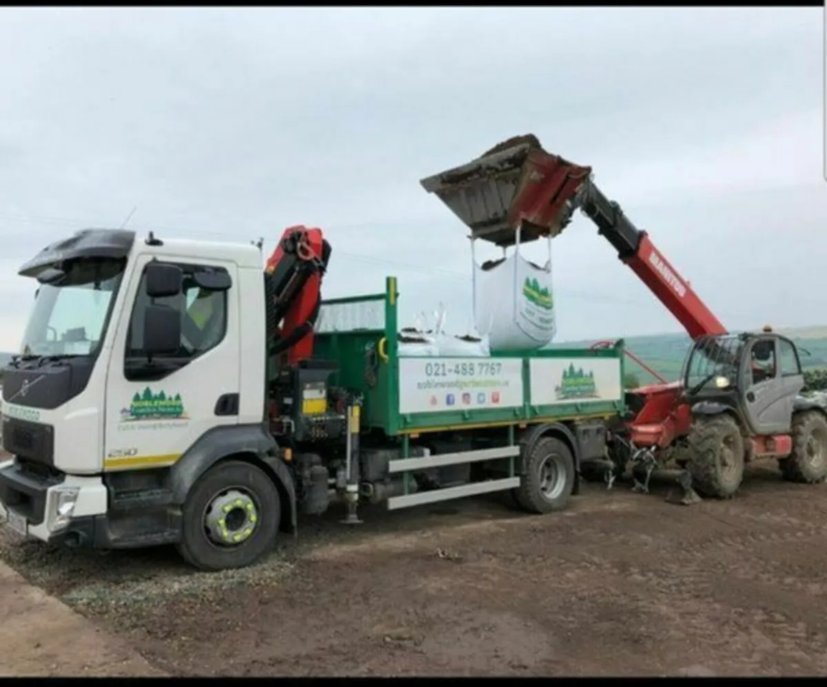
<path fill-rule="evenodd" d="M 785 353 L 788 367 L 789 352 L 786 348 L 782 350 L 782 341 L 792 345 L 786 339 L 762 337 L 753 340 L 745 352 L 744 413 L 751 430 L 758 435 L 789 433 L 792 404 L 804 384 L 797 357 L 796 372 L 788 370 L 785 375 L 781 353 Z"/>

